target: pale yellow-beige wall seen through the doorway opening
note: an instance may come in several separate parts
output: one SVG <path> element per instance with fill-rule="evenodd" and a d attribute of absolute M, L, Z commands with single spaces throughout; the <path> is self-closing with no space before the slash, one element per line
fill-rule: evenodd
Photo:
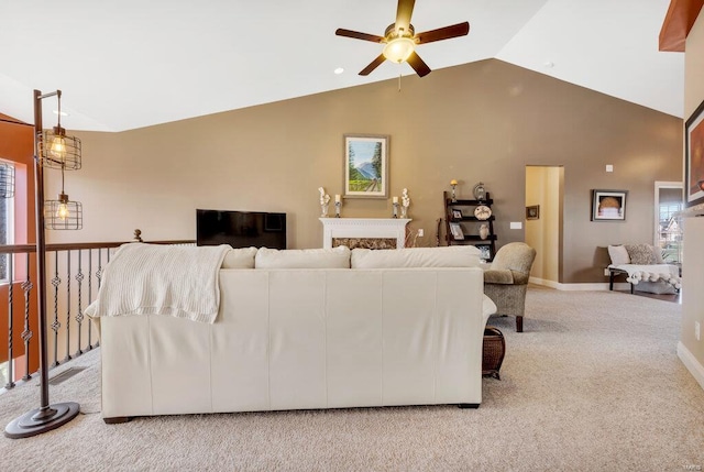
<path fill-rule="evenodd" d="M 526 243 L 536 249 L 531 277 L 544 285 L 560 282 L 562 167 L 526 167 L 526 206 L 539 205 L 540 218 L 526 220 Z"/>

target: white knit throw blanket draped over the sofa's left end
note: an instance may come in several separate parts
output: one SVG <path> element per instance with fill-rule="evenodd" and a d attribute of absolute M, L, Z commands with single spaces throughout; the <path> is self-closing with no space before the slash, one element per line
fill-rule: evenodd
<path fill-rule="evenodd" d="M 124 244 L 106 266 L 86 315 L 172 315 L 212 323 L 220 307 L 218 274 L 230 249 Z"/>

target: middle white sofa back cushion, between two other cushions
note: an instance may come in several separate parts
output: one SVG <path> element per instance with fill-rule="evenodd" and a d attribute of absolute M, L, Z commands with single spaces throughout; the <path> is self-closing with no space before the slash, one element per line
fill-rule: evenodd
<path fill-rule="evenodd" d="M 254 268 L 350 268 L 350 248 L 267 249 L 254 257 Z"/>

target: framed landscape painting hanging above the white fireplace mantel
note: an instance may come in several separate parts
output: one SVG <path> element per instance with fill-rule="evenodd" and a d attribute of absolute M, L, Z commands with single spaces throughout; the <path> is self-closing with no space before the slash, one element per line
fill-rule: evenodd
<path fill-rule="evenodd" d="M 344 134 L 344 198 L 388 198 L 387 134 Z"/>

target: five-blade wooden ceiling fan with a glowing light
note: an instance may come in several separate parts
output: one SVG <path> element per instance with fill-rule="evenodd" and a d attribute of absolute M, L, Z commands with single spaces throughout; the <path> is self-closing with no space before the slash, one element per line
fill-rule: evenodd
<path fill-rule="evenodd" d="M 386 44 L 384 51 L 377 58 L 360 72 L 361 76 L 369 75 L 384 61 L 394 63 L 407 62 L 420 77 L 430 74 L 430 67 L 416 54 L 417 44 L 432 43 L 433 41 L 449 40 L 451 37 L 464 36 L 470 32 L 470 23 L 458 23 L 438 30 L 426 31 L 416 34 L 414 25 L 410 24 L 410 15 L 414 12 L 416 0 L 398 0 L 396 8 L 396 22 L 386 28 L 384 36 L 360 33 L 358 31 L 338 29 L 334 34 L 338 36 L 353 37 L 355 40 L 371 41 L 373 43 Z"/>

